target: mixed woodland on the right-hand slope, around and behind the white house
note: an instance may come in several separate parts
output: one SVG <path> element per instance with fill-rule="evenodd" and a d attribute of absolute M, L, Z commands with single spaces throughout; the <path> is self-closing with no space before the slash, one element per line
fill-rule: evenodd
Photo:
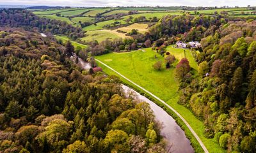
<path fill-rule="evenodd" d="M 176 66 L 179 103 L 204 122 L 205 136 L 228 152 L 255 152 L 255 20 L 166 16 L 149 34 L 160 47 L 164 41 L 200 41 L 200 52 L 191 50 L 198 72 L 189 68 L 186 58 Z"/>

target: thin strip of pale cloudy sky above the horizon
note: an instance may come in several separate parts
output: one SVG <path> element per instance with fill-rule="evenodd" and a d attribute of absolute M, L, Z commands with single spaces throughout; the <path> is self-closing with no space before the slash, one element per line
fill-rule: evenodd
<path fill-rule="evenodd" d="M 1 5 L 47 6 L 256 6 L 256 0 L 0 0 Z"/>

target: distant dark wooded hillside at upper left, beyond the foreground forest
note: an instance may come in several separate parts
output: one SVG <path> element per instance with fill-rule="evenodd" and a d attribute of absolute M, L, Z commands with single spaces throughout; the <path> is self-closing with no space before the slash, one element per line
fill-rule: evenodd
<path fill-rule="evenodd" d="M 24 27 L 27 31 L 37 28 L 38 31 L 51 34 L 63 34 L 73 40 L 84 36 L 84 31 L 82 31 L 81 27 L 74 27 L 61 20 L 40 18 L 31 11 L 17 8 L 0 9 L 0 25 Z"/>

